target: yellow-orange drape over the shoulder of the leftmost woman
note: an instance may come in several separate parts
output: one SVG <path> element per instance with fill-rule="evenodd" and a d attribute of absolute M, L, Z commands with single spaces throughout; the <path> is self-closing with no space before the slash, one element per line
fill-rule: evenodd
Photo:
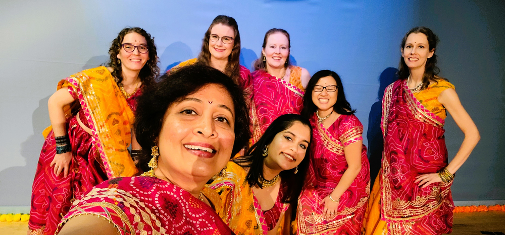
<path fill-rule="evenodd" d="M 101 66 L 75 73 L 58 84 L 58 89 L 65 87 L 84 112 L 107 177 L 135 175 L 137 168 L 127 150 L 133 112 L 109 70 Z"/>

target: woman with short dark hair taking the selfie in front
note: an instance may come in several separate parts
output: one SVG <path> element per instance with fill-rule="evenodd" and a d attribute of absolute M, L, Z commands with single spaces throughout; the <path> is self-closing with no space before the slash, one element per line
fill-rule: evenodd
<path fill-rule="evenodd" d="M 248 142 L 243 92 L 224 73 L 189 65 L 140 97 L 142 176 L 118 177 L 75 201 L 62 234 L 231 234 L 205 187 Z M 85 229 L 83 229 L 85 228 Z"/>

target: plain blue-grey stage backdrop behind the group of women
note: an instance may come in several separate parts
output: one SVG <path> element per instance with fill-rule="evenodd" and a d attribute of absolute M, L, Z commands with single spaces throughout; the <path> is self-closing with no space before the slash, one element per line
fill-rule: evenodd
<path fill-rule="evenodd" d="M 41 132 L 50 124 L 47 100 L 58 81 L 106 62 L 111 41 L 126 26 L 144 28 L 155 37 L 160 67 L 165 70 L 197 56 L 217 15 L 237 20 L 241 64 L 248 68 L 261 54 L 265 32 L 282 28 L 291 35 L 296 65 L 311 74 L 320 69 L 336 71 L 365 127 L 364 142 L 371 148 L 372 162 L 380 156 L 382 141 L 377 102 L 394 79 L 401 38 L 412 27 L 431 28 L 441 40 L 437 50 L 441 75 L 456 86 L 482 136 L 457 173 L 454 199 L 503 200 L 505 4 L 481 2 L 3 0 L 0 206 L 28 211 L 44 141 Z M 452 158 L 463 134 L 450 117 L 446 130 Z"/>

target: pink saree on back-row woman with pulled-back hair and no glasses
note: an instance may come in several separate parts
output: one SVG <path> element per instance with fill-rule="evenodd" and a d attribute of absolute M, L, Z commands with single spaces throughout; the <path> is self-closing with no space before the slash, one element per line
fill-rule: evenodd
<path fill-rule="evenodd" d="M 292 72 L 291 75 L 294 74 Z M 251 75 L 252 104 L 249 113 L 252 121 L 252 144 L 254 144 L 277 117 L 288 113 L 300 114 L 304 92 L 264 70 L 256 70 Z M 300 77 L 296 79 L 299 81 Z M 293 80 L 293 77 L 290 80 Z"/>

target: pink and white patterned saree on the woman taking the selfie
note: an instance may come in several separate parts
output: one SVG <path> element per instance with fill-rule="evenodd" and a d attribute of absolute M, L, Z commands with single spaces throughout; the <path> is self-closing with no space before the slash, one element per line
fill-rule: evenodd
<path fill-rule="evenodd" d="M 110 221 L 121 235 L 232 234 L 210 206 L 156 177 L 118 177 L 97 185 L 73 203 L 58 229 L 82 214 Z"/>

